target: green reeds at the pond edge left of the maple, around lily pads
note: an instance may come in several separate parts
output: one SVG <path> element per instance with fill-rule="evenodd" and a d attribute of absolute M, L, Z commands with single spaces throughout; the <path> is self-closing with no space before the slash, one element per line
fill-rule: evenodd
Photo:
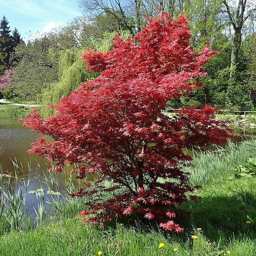
<path fill-rule="evenodd" d="M 40 167 L 43 173 L 41 187 L 30 190 L 31 164 L 28 163 L 29 175 L 26 178 L 24 167 L 16 158 L 12 164 L 14 171 L 10 173 L 3 172 L 0 165 L 0 235 L 10 231 L 32 230 L 49 220 L 68 218 L 84 207 L 83 200 L 68 196 L 78 188 L 72 182 L 71 174 L 63 190 L 56 175 Z M 32 208 L 28 208 L 28 194 L 34 195 Z"/>

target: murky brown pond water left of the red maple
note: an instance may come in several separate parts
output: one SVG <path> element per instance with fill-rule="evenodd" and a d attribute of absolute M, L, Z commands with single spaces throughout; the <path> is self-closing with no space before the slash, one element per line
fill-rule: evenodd
<path fill-rule="evenodd" d="M 48 186 L 44 174 L 49 177 L 47 173 L 47 167 L 51 165 L 47 159 L 41 158 L 37 155 L 28 155 L 27 150 L 31 148 L 30 144 L 35 142 L 40 134 L 30 132 L 30 129 L 22 126 L 21 123 L 15 119 L 0 120 L 0 163 L 1 172 L 4 174 L 5 184 L 8 187 L 14 187 L 14 193 L 19 188 L 25 189 L 24 183 L 27 185 L 27 181 L 30 180 L 26 193 L 26 202 L 28 212 L 33 212 L 33 206 L 37 206 L 37 201 L 40 201 L 40 193 L 28 193 L 29 191 L 36 191 L 44 189 L 44 198 L 50 199 L 52 194 L 47 194 Z M 18 166 L 18 167 L 17 167 Z M 14 178 L 15 174 L 18 174 L 18 183 Z M 56 187 L 50 183 L 51 190 L 54 192 L 67 193 L 66 184 L 69 182 L 70 173 L 68 170 L 62 172 L 62 174 L 56 174 L 55 180 L 58 182 L 59 187 Z M 71 177 L 75 186 L 78 186 L 78 180 L 75 176 Z M 6 185 L 7 186 L 7 185 Z M 57 195 L 58 196 L 58 195 Z M 47 208 L 47 205 L 46 205 Z"/>

